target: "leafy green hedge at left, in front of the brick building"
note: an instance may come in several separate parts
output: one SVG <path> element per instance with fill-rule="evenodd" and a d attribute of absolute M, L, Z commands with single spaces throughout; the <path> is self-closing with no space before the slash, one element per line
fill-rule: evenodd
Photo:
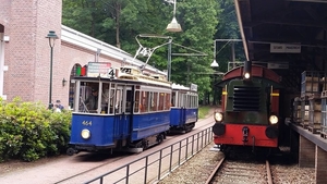
<path fill-rule="evenodd" d="M 0 98 L 0 162 L 34 161 L 65 152 L 71 119 L 70 111 L 56 113 L 40 102 Z"/>

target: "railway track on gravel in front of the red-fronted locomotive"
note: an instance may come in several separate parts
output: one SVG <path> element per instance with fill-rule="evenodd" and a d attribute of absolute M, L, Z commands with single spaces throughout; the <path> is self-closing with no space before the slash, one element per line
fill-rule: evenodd
<path fill-rule="evenodd" d="M 206 184 L 235 184 L 235 183 L 257 183 L 272 184 L 269 161 L 244 162 L 229 161 L 221 159 L 213 173 L 209 175 Z"/>

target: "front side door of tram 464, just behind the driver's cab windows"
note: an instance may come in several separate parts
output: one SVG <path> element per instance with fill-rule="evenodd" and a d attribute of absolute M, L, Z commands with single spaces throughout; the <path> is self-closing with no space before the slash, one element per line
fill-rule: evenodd
<path fill-rule="evenodd" d="M 117 128 L 123 137 L 129 136 L 129 131 L 131 128 L 132 101 L 134 98 L 132 89 L 132 86 L 120 84 L 118 84 L 116 88 L 114 116 Z"/>

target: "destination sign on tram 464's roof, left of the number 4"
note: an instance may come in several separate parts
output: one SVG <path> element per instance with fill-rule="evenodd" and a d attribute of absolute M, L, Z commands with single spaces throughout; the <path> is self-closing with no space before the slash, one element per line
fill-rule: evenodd
<path fill-rule="evenodd" d="M 108 76 L 108 71 L 111 68 L 109 62 L 88 62 L 87 76 Z"/>

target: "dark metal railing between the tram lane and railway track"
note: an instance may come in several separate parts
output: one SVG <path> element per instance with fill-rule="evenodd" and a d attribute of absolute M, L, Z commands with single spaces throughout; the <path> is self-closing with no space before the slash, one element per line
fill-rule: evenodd
<path fill-rule="evenodd" d="M 93 179 L 89 183 L 158 183 L 213 140 L 211 127 Z M 133 182 L 130 182 L 133 181 Z"/>

